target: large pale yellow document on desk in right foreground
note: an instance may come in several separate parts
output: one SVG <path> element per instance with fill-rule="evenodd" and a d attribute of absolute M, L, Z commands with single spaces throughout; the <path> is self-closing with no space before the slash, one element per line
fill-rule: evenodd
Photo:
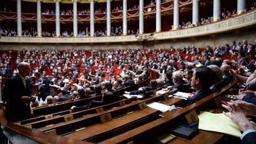
<path fill-rule="evenodd" d="M 214 114 L 202 111 L 199 114 L 199 129 L 226 133 L 236 137 L 241 136 L 239 127 L 222 113 Z"/>

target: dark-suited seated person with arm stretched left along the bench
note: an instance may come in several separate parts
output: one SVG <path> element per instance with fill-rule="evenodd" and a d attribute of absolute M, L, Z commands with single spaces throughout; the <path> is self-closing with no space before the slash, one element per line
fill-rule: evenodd
<path fill-rule="evenodd" d="M 84 106 L 78 106 L 78 107 L 72 106 L 71 110 L 72 111 L 86 110 L 89 108 L 98 107 L 100 105 L 112 103 L 113 101 L 114 101 L 114 94 L 112 92 L 106 91 L 106 92 L 104 92 L 103 98 L 101 101 L 92 100 L 91 103 L 84 105 Z"/>

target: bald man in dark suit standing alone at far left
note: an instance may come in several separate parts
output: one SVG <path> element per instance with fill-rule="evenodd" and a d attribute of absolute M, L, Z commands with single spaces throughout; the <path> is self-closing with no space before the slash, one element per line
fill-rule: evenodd
<path fill-rule="evenodd" d="M 30 65 L 21 62 L 17 68 L 17 75 L 8 79 L 3 94 L 4 101 L 7 102 L 6 117 L 12 122 L 30 118 L 30 102 L 36 100 L 36 97 L 31 96 L 31 87 L 26 79 L 30 73 Z"/>

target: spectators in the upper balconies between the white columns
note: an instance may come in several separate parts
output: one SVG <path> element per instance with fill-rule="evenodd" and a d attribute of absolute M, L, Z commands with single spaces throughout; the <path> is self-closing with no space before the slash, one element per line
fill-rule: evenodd
<path fill-rule="evenodd" d="M 150 6 L 150 5 L 155 5 L 155 2 L 151 1 L 148 6 Z M 256 7 L 256 2 L 251 7 L 251 9 L 254 9 L 255 7 Z M 135 7 L 130 8 L 130 9 L 134 9 L 134 8 L 137 8 L 136 5 L 135 5 Z M 120 8 L 116 7 L 112 10 L 112 12 L 119 12 L 119 11 L 122 11 L 122 7 L 120 7 Z M 246 12 L 246 11 L 247 11 L 247 9 L 245 9 L 244 12 Z M 43 12 L 43 14 L 53 14 L 53 13 L 54 13 L 53 10 L 49 11 L 48 9 L 47 9 L 47 11 Z M 101 8 L 95 10 L 95 14 L 99 14 L 99 13 L 104 13 L 105 14 L 105 11 Z M 61 11 L 60 14 L 72 14 L 72 11 L 71 10 Z M 78 11 L 78 14 L 89 14 L 89 9 L 84 10 L 84 11 Z M 223 20 L 223 19 L 226 19 L 226 18 L 229 18 L 229 17 L 234 17 L 234 16 L 236 16 L 236 10 L 230 12 L 230 11 L 226 10 L 226 8 L 223 8 L 221 14 L 219 15 L 218 20 L 220 21 L 220 20 Z M 180 25 L 178 25 L 177 29 L 180 30 L 180 29 L 184 29 L 184 28 L 197 27 L 199 25 L 210 24 L 212 22 L 213 22 L 213 17 L 201 18 L 199 23 L 196 23 L 196 24 L 192 24 L 191 21 L 188 21 L 187 23 L 182 22 Z M 172 25 L 172 30 L 173 29 L 174 29 L 174 25 Z M 122 34 L 123 34 L 123 30 L 122 30 L 121 26 L 120 27 L 115 27 L 115 28 L 111 27 L 111 36 L 121 36 Z M 128 30 L 127 34 L 128 35 L 139 34 L 139 30 L 137 30 L 136 33 L 133 30 Z M 88 37 L 90 35 L 91 34 L 89 32 L 85 33 L 85 31 L 79 31 L 79 33 L 78 33 L 78 37 Z M 15 36 L 17 36 L 17 32 L 15 30 L 3 30 L 1 28 L 0 36 L 15 37 Z M 24 37 L 36 37 L 37 36 L 37 31 L 34 30 L 34 27 L 31 27 L 30 30 L 23 30 L 22 36 L 24 36 Z M 43 31 L 42 36 L 43 37 L 55 37 L 56 32 L 55 31 L 54 32 Z M 72 36 L 73 36 L 73 31 L 71 31 L 71 33 L 68 33 L 68 31 L 65 30 L 61 33 L 61 37 L 72 37 Z M 104 28 L 104 30 L 97 30 L 95 32 L 94 36 L 96 36 L 96 37 L 107 36 L 106 28 Z"/>

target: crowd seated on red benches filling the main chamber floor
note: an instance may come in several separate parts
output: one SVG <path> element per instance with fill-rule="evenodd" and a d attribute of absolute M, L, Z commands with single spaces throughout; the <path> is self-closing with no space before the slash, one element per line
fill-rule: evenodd
<path fill-rule="evenodd" d="M 173 88 L 181 91 L 184 84 L 190 84 L 196 91 L 187 100 L 187 105 L 190 105 L 212 92 L 219 91 L 219 89 L 232 82 L 233 78 L 236 78 L 245 82 L 244 85 L 241 84 L 239 87 L 246 89 L 246 91 L 235 96 L 242 101 L 239 104 L 231 101 L 227 105 L 223 105 L 231 111 L 231 114 L 224 114 L 235 121 L 239 128 L 245 132 L 254 130 L 254 128 L 250 124 L 248 127 L 242 127 L 242 122 L 248 123 L 244 119 L 238 121 L 240 120 L 238 116 L 243 118 L 248 114 L 240 110 L 244 108 L 241 106 L 242 104 L 251 106 L 256 104 L 256 98 L 254 97 L 256 91 L 255 47 L 256 40 L 254 43 L 242 40 L 242 42 L 238 41 L 237 43 L 232 41 L 232 46 L 229 46 L 229 44 L 217 47 L 207 46 L 206 49 L 191 46 L 191 48 L 183 47 L 182 49 L 170 47 L 168 50 L 140 48 L 92 51 L 74 49 L 65 51 L 57 49 L 20 50 L 15 55 L 15 65 L 19 71 L 13 71 L 13 75 L 16 79 L 18 79 L 18 75 L 21 75 L 21 79 L 25 79 L 25 82 L 23 82 L 25 87 L 29 87 L 28 82 L 33 82 L 32 78 L 34 78 L 34 83 L 39 85 L 40 93 L 37 98 L 33 96 L 31 98 L 23 97 L 25 103 L 31 101 L 33 107 L 71 99 L 81 100 L 82 98 L 103 94 L 103 100 L 91 101 L 88 105 L 79 107 L 74 105 L 71 107 L 73 111 L 119 100 L 119 97 L 113 95 L 112 92 L 115 89 L 127 86 L 133 88 L 136 83 L 149 78 L 150 69 L 159 72 L 161 77 L 152 79 L 148 87 L 131 89 L 125 93 L 143 95 L 146 94 L 145 92 L 162 87 L 165 84 L 173 85 Z M 11 53 L 13 52 L 8 52 L 9 56 Z M 192 56 L 190 57 L 190 55 Z M 225 56 L 232 55 L 236 55 L 236 61 L 225 59 Z M 30 70 L 29 65 L 31 71 L 27 71 Z M 121 73 L 113 75 L 114 71 L 118 69 L 121 70 Z M 4 88 L 4 95 L 8 94 L 6 91 L 9 85 L 13 84 L 9 80 L 7 81 L 5 85 L 7 89 Z M 57 85 L 61 89 L 61 93 L 59 95 L 49 95 L 49 85 Z M 4 96 L 4 100 L 11 101 L 6 96 Z M 180 108 L 172 105 L 170 111 L 175 113 Z M 27 109 L 25 110 L 27 111 Z M 16 120 L 15 116 L 12 116 L 8 115 L 8 119 Z M 254 132 L 255 130 L 247 132 L 249 134 L 246 133 L 245 136 L 242 136 L 242 140 L 247 139 L 247 135 Z"/>

